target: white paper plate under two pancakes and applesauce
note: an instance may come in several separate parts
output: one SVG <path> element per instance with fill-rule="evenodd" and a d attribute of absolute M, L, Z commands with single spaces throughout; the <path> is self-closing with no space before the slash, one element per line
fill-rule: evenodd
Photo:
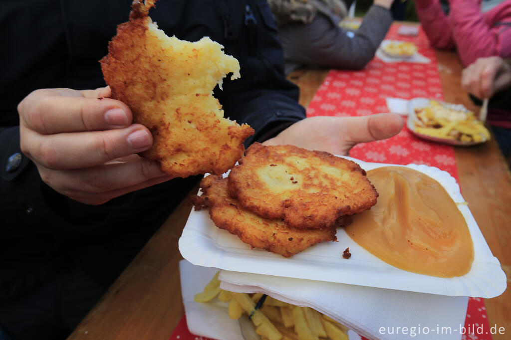
<path fill-rule="evenodd" d="M 393 165 L 345 158 L 357 162 L 366 171 Z M 456 180 L 447 172 L 426 165 L 406 166 L 437 180 L 454 202 L 464 202 Z M 458 204 L 458 208 L 467 221 L 474 242 L 474 262 L 468 274 L 455 278 L 415 274 L 391 266 L 357 245 L 342 228 L 337 229 L 337 242 L 322 242 L 291 258 L 264 250 L 252 250 L 237 236 L 217 228 L 207 210 L 192 209 L 179 238 L 179 251 L 185 259 L 195 265 L 228 271 L 449 296 L 496 297 L 506 288 L 506 276 L 500 268 L 499 260 L 492 255 L 487 246 L 468 206 Z M 346 260 L 342 253 L 348 247 L 353 255 Z"/>

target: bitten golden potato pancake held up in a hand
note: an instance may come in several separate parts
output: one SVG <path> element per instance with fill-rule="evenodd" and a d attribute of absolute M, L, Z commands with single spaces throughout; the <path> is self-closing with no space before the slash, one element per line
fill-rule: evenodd
<path fill-rule="evenodd" d="M 222 174 L 243 156 L 243 141 L 254 132 L 224 118 L 213 96 L 226 74 L 240 77 L 240 65 L 208 37 L 188 42 L 165 35 L 147 15 L 152 6 L 133 2 L 129 21 L 118 26 L 100 61 L 112 98 L 151 131 L 154 143 L 142 156 L 162 171 Z"/>

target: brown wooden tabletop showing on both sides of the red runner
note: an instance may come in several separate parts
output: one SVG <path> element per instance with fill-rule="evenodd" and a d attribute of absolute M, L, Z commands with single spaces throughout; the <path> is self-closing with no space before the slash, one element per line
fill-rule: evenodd
<path fill-rule="evenodd" d="M 437 51 L 446 102 L 476 109 L 460 87 L 461 65 L 453 52 Z M 328 70 L 298 70 L 290 79 L 307 106 Z M 493 254 L 511 276 L 511 174 L 495 140 L 455 149 L 463 197 Z M 189 195 L 195 195 L 197 187 Z M 178 239 L 192 206 L 185 199 L 149 240 L 69 339 L 167 340 L 184 314 L 179 281 Z M 490 326 L 511 331 L 511 292 L 485 300 Z M 506 339 L 509 335 L 494 335 Z"/>

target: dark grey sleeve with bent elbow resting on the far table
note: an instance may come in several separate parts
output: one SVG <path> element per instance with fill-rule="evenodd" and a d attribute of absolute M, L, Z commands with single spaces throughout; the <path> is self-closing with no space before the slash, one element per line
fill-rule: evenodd
<path fill-rule="evenodd" d="M 362 69 L 375 56 L 391 23 L 390 11 L 373 5 L 357 31 L 340 28 L 318 13 L 308 25 L 280 27 L 279 38 L 288 63 Z"/>

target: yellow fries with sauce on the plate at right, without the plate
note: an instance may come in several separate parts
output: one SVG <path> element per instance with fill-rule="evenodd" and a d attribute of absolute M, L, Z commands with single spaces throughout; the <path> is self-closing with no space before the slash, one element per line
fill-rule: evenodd
<path fill-rule="evenodd" d="M 490 139 L 490 132 L 470 111 L 458 111 L 430 101 L 430 106 L 415 110 L 415 132 L 437 138 L 480 142 Z"/>

